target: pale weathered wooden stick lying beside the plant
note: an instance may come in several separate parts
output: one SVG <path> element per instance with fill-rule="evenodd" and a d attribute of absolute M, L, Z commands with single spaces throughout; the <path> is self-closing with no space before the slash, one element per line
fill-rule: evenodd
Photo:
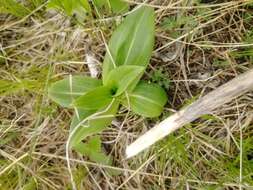
<path fill-rule="evenodd" d="M 218 87 L 147 131 L 127 146 L 127 158 L 135 156 L 178 128 L 194 121 L 204 114 L 211 113 L 219 106 L 250 90 L 253 90 L 253 69 Z"/>

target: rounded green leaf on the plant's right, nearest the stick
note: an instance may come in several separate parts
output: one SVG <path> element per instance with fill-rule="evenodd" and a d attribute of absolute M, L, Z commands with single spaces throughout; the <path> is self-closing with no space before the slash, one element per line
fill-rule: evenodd
<path fill-rule="evenodd" d="M 144 117 L 159 116 L 167 102 L 167 95 L 163 88 L 142 81 L 128 94 L 128 97 L 131 110 Z M 123 100 L 123 105 L 128 106 L 127 99 Z"/>

